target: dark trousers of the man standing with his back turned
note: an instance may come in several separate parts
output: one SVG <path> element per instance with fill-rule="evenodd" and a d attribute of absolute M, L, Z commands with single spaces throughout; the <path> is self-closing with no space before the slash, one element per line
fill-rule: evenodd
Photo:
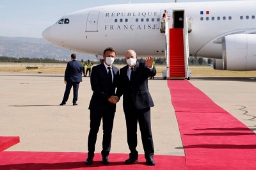
<path fill-rule="evenodd" d="M 78 88 L 80 82 L 67 81 L 66 89 L 62 102 L 67 102 L 71 88 L 73 87 L 73 103 L 76 103 L 78 98 Z"/>

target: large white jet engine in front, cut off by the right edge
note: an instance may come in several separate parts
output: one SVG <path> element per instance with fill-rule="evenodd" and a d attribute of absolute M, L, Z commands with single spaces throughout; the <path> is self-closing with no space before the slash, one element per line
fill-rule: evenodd
<path fill-rule="evenodd" d="M 224 70 L 256 70 L 256 35 L 227 35 L 222 39 Z"/>

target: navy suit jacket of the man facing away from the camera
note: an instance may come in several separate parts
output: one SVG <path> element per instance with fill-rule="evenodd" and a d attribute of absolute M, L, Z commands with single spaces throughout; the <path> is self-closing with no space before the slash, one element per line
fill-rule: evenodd
<path fill-rule="evenodd" d="M 82 64 L 76 59 L 68 61 L 66 70 L 65 70 L 65 81 L 71 82 L 81 82 L 82 81 Z"/>

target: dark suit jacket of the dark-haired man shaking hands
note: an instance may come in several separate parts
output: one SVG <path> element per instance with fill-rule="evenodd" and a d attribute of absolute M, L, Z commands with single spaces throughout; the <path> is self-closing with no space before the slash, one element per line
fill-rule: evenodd
<path fill-rule="evenodd" d="M 89 109 L 92 111 L 116 111 L 116 105 L 108 102 L 108 98 L 115 95 L 119 70 L 112 65 L 113 82 L 109 80 L 104 63 L 93 66 L 91 73 L 91 86 L 93 95 Z"/>

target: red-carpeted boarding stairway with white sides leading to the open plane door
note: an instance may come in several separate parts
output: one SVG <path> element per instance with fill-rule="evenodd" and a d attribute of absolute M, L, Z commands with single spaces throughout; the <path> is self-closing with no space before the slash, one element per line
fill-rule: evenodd
<path fill-rule="evenodd" d="M 188 20 L 188 19 L 186 19 Z M 166 38 L 166 72 L 164 79 L 190 79 L 188 70 L 188 22 L 185 20 L 184 28 L 169 28 L 165 23 Z M 163 33 L 163 29 L 161 30 Z"/>

